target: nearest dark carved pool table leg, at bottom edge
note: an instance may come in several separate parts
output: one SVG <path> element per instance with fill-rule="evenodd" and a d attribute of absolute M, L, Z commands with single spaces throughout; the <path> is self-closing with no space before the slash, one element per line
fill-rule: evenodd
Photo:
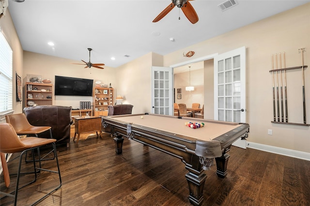
<path fill-rule="evenodd" d="M 189 202 L 195 206 L 202 205 L 203 201 L 203 186 L 207 175 L 201 173 L 196 175 L 194 173 L 187 173 L 185 175 L 189 189 Z"/>

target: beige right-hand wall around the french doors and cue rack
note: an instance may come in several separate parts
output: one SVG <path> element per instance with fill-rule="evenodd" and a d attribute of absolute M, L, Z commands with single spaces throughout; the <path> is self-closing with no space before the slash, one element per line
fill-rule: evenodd
<path fill-rule="evenodd" d="M 298 49 L 306 47 L 304 65 L 310 64 L 310 3 L 279 15 L 233 30 L 164 56 L 164 66 L 183 62 L 183 51 L 195 51 L 195 58 L 247 48 L 248 141 L 310 152 L 310 127 L 271 123 L 273 120 L 271 55 L 285 51 L 286 67 L 301 65 Z M 308 49 L 307 49 L 308 48 Z M 301 70 L 288 72 L 290 122 L 303 122 Z M 205 77 L 206 78 L 206 77 Z M 205 89 L 206 85 L 205 85 Z M 305 69 L 307 123 L 310 123 L 310 69 Z M 205 105 L 207 103 L 205 102 Z M 267 135 L 272 129 L 273 135 Z"/>

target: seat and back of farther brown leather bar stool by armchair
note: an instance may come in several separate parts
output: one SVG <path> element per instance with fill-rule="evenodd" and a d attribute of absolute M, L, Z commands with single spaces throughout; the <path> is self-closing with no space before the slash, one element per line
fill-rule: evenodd
<path fill-rule="evenodd" d="M 13 115 L 6 115 L 5 116 L 5 119 L 6 119 L 6 122 L 7 123 L 10 123 L 16 134 L 17 135 L 35 135 L 36 137 L 38 137 L 38 134 L 39 133 L 42 133 L 42 132 L 46 132 L 46 131 L 49 131 L 49 136 L 50 138 L 52 139 L 52 131 L 51 131 L 51 127 L 49 126 L 32 126 L 28 119 L 26 118 L 26 115 L 24 113 L 18 113 L 18 114 L 13 114 Z M 55 157 L 53 158 L 48 158 L 48 159 L 45 159 L 45 157 L 47 155 L 49 155 L 51 153 L 51 151 L 49 153 L 47 153 L 44 157 L 42 157 L 42 160 L 51 160 L 51 159 L 54 159 Z M 25 157 L 25 160 L 26 162 L 27 161 L 27 155 Z"/>

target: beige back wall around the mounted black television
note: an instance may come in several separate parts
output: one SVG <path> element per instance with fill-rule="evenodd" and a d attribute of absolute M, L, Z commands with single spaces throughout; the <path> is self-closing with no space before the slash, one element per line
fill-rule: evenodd
<path fill-rule="evenodd" d="M 71 64 L 80 63 L 70 59 L 63 59 L 58 57 L 52 57 L 43 54 L 37 54 L 33 52 L 24 51 L 24 72 L 23 82 L 26 82 L 27 74 L 39 74 L 42 79 L 50 79 L 52 84 L 55 82 L 55 75 L 58 76 L 70 76 L 77 78 L 101 80 L 103 84 L 115 87 L 117 80 L 115 75 L 115 69 L 104 67 L 105 69 L 84 68 L 83 65 Z M 117 90 L 117 89 L 116 89 Z M 92 97 L 84 96 L 53 96 L 53 104 L 62 106 L 72 106 L 73 108 L 79 108 L 79 102 L 90 101 L 93 102 Z"/>

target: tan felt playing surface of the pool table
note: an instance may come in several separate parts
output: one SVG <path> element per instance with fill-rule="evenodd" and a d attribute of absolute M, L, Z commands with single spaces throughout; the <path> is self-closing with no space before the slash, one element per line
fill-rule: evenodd
<path fill-rule="evenodd" d="M 143 118 L 141 118 L 143 116 Z M 186 137 L 192 137 L 194 139 L 200 139 L 204 141 L 211 141 L 212 139 L 229 132 L 239 126 L 239 123 L 224 122 L 207 119 L 179 119 L 175 116 L 157 116 L 157 115 L 130 115 L 130 116 L 111 116 L 124 122 L 130 122 L 136 126 L 149 127 L 165 132 L 171 132 L 173 134 L 184 135 Z M 198 122 L 204 123 L 204 127 L 193 129 L 186 126 L 186 122 Z"/>

